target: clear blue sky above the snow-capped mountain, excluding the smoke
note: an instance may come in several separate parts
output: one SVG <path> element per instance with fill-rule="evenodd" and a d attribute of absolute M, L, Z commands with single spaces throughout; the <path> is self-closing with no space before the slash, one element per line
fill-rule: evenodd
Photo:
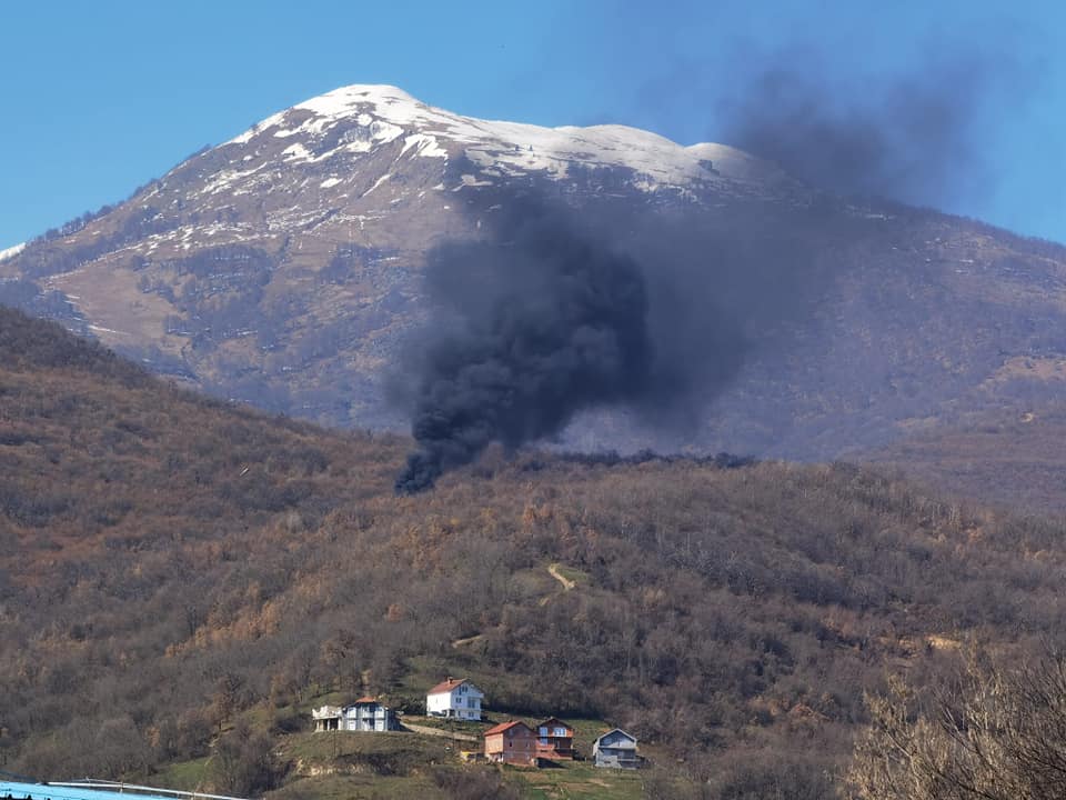
<path fill-rule="evenodd" d="M 995 180 L 947 210 L 1066 241 L 1060 1 L 36 0 L 4 3 L 0 30 L 0 249 L 348 83 L 476 117 L 723 141 L 716 101 L 797 41 L 871 80 L 942 46 L 1023 62 L 975 126 Z"/>

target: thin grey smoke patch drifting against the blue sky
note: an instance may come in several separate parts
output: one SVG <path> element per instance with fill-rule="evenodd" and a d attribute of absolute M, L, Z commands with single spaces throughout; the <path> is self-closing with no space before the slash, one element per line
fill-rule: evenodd
<path fill-rule="evenodd" d="M 733 90 L 716 103 L 718 141 L 817 188 L 937 208 L 990 184 L 985 114 L 1008 111 L 1030 82 L 1003 53 L 945 46 L 883 76 L 831 67 L 801 46 L 737 59 L 737 69 Z"/>

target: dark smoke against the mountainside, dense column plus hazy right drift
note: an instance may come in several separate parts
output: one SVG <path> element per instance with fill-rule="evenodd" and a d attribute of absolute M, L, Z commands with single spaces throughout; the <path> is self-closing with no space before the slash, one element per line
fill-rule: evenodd
<path fill-rule="evenodd" d="M 834 236 L 817 208 L 567 202 L 480 194 L 481 237 L 429 253 L 431 319 L 393 387 L 416 441 L 398 492 L 493 441 L 553 438 L 586 410 L 624 408 L 656 447 L 681 447 L 753 351 L 787 346 L 833 277 L 815 258 Z"/>

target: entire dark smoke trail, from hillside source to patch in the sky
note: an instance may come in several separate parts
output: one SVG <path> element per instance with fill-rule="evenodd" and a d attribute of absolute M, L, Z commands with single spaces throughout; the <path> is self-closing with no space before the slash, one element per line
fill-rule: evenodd
<path fill-rule="evenodd" d="M 428 258 L 433 314 L 406 392 L 416 449 L 396 491 L 596 408 L 694 430 L 754 350 L 788 352 L 796 323 L 821 324 L 851 268 L 839 242 L 873 223 L 818 189 L 937 204 L 986 178 L 972 133 L 1013 69 L 1000 67 L 947 53 L 865 91 L 795 49 L 753 67 L 718 102 L 715 138 L 776 161 L 809 202 L 480 193 L 481 237 Z"/>

